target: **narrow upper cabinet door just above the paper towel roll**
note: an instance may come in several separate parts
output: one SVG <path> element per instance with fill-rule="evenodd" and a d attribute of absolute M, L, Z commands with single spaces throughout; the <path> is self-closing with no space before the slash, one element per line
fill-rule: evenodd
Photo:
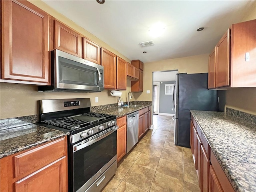
<path fill-rule="evenodd" d="M 126 90 L 127 84 L 127 64 L 126 61 L 117 57 L 116 89 Z"/>

